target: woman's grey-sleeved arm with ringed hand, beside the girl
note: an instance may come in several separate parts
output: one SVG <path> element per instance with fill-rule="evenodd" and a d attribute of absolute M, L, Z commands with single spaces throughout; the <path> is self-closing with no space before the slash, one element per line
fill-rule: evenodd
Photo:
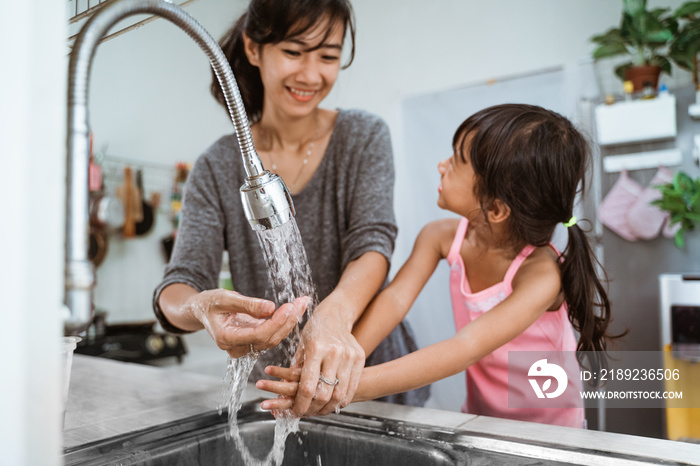
<path fill-rule="evenodd" d="M 335 140 L 342 146 L 329 149 L 338 164 L 329 176 L 338 196 L 337 266 L 342 273 L 302 332 L 304 354 L 296 361 L 303 361 L 304 369 L 294 411 L 303 416 L 330 413 L 352 399 L 365 363 L 352 327 L 386 279 L 397 231 L 388 126 L 352 111 L 337 131 L 342 137 Z M 339 383 L 319 383 L 320 375 Z"/>

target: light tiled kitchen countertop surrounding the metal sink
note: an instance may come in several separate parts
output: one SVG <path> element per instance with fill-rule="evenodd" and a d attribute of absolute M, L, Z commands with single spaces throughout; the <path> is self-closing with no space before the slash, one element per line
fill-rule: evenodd
<path fill-rule="evenodd" d="M 167 371 L 76 354 L 68 396 L 64 446 L 77 447 L 217 409 L 221 378 Z M 249 386 L 243 401 L 265 397 Z M 700 445 L 632 435 L 572 429 L 381 402 L 354 403 L 343 410 L 527 442 L 595 448 L 653 462 L 700 464 Z"/>

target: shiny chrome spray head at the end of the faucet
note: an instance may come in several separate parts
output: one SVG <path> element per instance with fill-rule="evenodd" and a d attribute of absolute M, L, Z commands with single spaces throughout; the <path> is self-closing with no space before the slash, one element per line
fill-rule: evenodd
<path fill-rule="evenodd" d="M 277 228 L 296 214 L 287 185 L 267 170 L 246 178 L 240 191 L 245 216 L 255 231 Z"/>

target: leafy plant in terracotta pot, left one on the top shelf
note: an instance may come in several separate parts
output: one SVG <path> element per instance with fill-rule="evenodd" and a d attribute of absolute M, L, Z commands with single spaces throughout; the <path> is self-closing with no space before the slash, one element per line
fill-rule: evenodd
<path fill-rule="evenodd" d="M 678 21 L 670 8 L 647 10 L 646 0 L 623 0 L 620 27 L 596 35 L 593 58 L 629 55 L 630 60 L 615 68 L 623 81 L 632 81 L 635 91 L 645 85 L 658 86 L 662 72 L 671 74 L 671 61 L 665 51 L 678 31 Z"/>

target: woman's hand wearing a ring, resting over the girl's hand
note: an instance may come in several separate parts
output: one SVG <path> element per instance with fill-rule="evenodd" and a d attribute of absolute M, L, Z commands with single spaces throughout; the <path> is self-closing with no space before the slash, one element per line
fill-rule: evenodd
<path fill-rule="evenodd" d="M 300 375 L 293 411 L 300 416 L 344 408 L 357 390 L 365 352 L 352 336 L 352 323 L 343 319 L 345 315 L 324 301 L 304 327 L 303 346 L 295 357 Z"/>

